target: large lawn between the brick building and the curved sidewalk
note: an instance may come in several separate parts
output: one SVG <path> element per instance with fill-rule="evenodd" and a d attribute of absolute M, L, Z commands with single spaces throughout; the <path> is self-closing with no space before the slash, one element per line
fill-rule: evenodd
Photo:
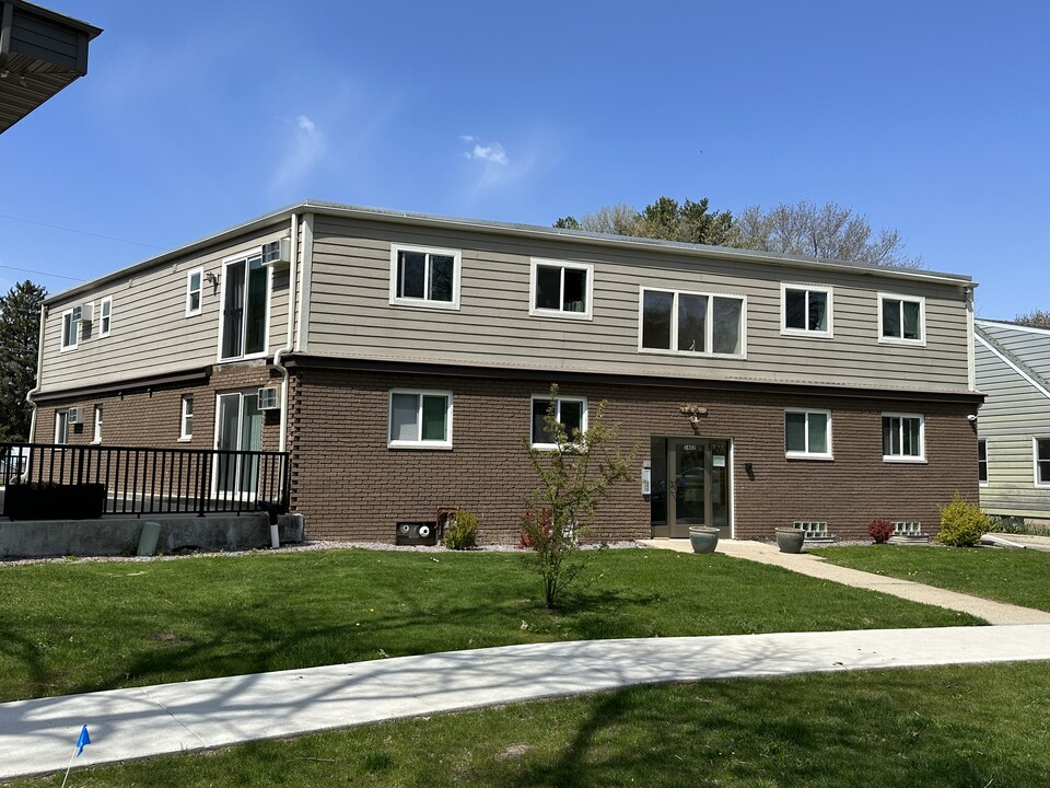
<path fill-rule="evenodd" d="M 981 623 L 718 554 L 606 551 L 582 580 L 549 612 L 506 553 L 0 565 L 0 700 L 550 640 Z"/>

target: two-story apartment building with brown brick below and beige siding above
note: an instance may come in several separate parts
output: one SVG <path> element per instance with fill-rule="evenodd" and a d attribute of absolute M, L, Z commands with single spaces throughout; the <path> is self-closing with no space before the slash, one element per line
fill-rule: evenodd
<path fill-rule="evenodd" d="M 315 538 L 458 506 L 516 541 L 557 383 L 562 422 L 606 399 L 638 449 L 600 538 L 933 532 L 978 495 L 973 287 L 305 201 L 49 298 L 35 437 L 287 449 Z"/>

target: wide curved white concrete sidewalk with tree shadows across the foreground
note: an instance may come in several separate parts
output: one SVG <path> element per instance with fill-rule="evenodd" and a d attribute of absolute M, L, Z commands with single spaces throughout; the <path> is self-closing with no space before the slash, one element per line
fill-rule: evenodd
<path fill-rule="evenodd" d="M 1050 625 L 537 644 L 0 705 L 0 779 L 656 682 L 1050 660 Z"/>

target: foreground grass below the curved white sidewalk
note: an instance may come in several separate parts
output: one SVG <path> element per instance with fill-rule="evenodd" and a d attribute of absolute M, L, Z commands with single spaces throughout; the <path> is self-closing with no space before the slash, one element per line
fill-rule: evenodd
<path fill-rule="evenodd" d="M 1035 788 L 1048 708 L 1046 663 L 631 687 L 78 767 L 70 785 Z"/>

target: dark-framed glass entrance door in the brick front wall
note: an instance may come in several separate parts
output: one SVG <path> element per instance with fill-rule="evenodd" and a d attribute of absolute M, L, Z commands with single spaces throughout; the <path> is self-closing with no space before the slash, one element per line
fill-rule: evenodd
<path fill-rule="evenodd" d="M 713 525 L 728 537 L 730 441 L 668 438 L 652 445 L 653 535 L 685 537 L 690 525 Z M 663 462 L 657 461 L 657 447 L 666 451 Z"/>

